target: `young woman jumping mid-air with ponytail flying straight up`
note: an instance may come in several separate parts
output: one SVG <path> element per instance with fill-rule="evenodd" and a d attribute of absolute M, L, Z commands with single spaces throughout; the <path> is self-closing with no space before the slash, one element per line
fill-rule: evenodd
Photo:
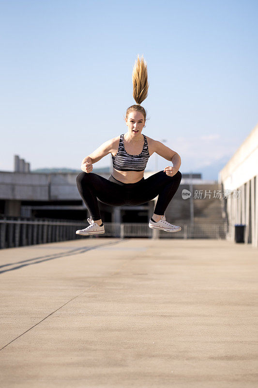
<path fill-rule="evenodd" d="M 77 176 L 76 183 L 91 218 L 88 218 L 90 225 L 85 229 L 76 230 L 76 234 L 88 236 L 105 233 L 98 200 L 111 206 L 141 205 L 157 195 L 158 200 L 149 227 L 166 232 L 181 230 L 180 226 L 169 224 L 165 217 L 165 210 L 182 179 L 179 171 L 181 158 L 177 152 L 142 133 L 142 129 L 145 128 L 146 112 L 140 104 L 148 96 L 148 88 L 147 64 L 143 57 L 139 59 L 138 56 L 133 69 L 133 97 L 136 104 L 127 109 L 125 116 L 128 131 L 107 140 L 82 160 L 83 172 Z M 145 179 L 143 173 L 148 159 L 154 152 L 173 162 L 173 167 L 167 166 L 163 171 Z M 92 164 L 109 153 L 113 160 L 111 176 L 106 179 L 92 173 Z"/>

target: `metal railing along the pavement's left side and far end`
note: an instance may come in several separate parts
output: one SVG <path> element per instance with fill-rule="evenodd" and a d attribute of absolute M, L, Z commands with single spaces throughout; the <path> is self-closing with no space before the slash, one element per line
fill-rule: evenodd
<path fill-rule="evenodd" d="M 178 224 L 182 228 L 180 232 L 168 233 L 159 229 L 151 229 L 148 223 L 119 224 L 106 222 L 104 234 L 92 235 L 88 238 L 225 239 L 227 231 L 226 224 Z M 84 221 L 3 218 L 0 219 L 0 249 L 80 239 L 82 236 L 76 235 L 75 232 L 77 229 L 85 227 Z"/>

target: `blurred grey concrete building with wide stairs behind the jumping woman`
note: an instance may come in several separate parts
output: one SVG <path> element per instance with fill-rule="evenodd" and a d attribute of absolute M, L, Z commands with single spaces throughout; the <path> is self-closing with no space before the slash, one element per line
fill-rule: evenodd
<path fill-rule="evenodd" d="M 0 172 L 0 217 L 73 220 L 88 225 L 90 214 L 76 187 L 78 172 Z M 104 178 L 110 176 L 110 172 L 101 173 L 97 168 L 95 172 Z M 144 178 L 154 173 L 145 171 Z M 172 224 L 182 226 L 183 238 L 225 238 L 219 189 L 217 181 L 203 180 L 199 173 L 182 173 L 180 187 L 165 215 Z M 156 201 L 157 197 L 142 205 L 119 207 L 99 202 L 99 207 L 105 223 L 146 224 Z"/>

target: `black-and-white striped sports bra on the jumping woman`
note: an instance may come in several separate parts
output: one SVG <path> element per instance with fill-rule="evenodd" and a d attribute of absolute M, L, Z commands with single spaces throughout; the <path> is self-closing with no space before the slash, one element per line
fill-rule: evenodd
<path fill-rule="evenodd" d="M 112 155 L 113 167 L 119 171 L 144 171 L 150 158 L 148 142 L 144 136 L 144 145 L 139 155 L 131 155 L 125 151 L 123 134 L 120 136 L 119 147 L 116 156 Z"/>

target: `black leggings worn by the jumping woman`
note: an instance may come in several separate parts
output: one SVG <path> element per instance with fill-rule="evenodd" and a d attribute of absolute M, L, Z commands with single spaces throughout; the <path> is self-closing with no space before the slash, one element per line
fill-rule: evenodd
<path fill-rule="evenodd" d="M 169 202 L 179 188 L 181 179 L 180 171 L 173 177 L 169 177 L 164 171 L 159 171 L 136 183 L 123 183 L 112 175 L 106 179 L 94 173 L 81 172 L 76 182 L 80 196 L 95 221 L 101 219 L 97 199 L 111 206 L 141 205 L 158 195 L 154 213 L 164 215 Z"/>

